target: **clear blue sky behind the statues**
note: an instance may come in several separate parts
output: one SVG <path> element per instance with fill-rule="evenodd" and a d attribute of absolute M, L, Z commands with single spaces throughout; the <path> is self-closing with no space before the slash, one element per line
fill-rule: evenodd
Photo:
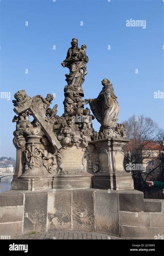
<path fill-rule="evenodd" d="M 84 98 L 96 98 L 101 80 L 108 78 L 120 105 L 119 123 L 144 114 L 163 127 L 163 99 L 154 98 L 164 90 L 162 0 L 1 0 L 0 7 L 1 91 L 11 93 L 10 101 L 0 98 L 0 156 L 16 157 L 12 99 L 18 90 L 31 97 L 55 93 L 53 105 L 63 114 L 69 70 L 61 62 L 74 37 L 87 46 L 89 57 Z M 146 20 L 146 29 L 127 27 L 130 18 Z M 96 120 L 93 127 L 99 130 Z"/>

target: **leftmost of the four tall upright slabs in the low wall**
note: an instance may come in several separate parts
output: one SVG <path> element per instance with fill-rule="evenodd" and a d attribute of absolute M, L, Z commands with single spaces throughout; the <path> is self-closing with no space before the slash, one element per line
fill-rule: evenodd
<path fill-rule="evenodd" d="M 47 192 L 26 192 L 24 233 L 45 231 L 47 221 Z"/>

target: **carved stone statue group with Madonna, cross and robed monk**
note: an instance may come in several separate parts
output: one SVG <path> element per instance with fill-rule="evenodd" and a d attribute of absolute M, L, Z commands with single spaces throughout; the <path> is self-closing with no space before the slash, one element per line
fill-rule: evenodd
<path fill-rule="evenodd" d="M 13 118 L 13 122 L 16 122 L 13 144 L 24 154 L 22 165 L 29 167 L 28 170 L 24 168 L 21 177 L 68 174 L 67 170 L 61 171 L 62 161 L 66 161 L 62 160 L 65 159 L 63 150 L 70 150 L 73 146 L 82 152 L 85 151 L 82 166 L 87 159 L 88 168 L 93 169 L 94 162 L 98 171 L 100 161 L 94 157 L 91 160 L 91 153 L 88 151 L 90 143 L 101 139 L 126 138 L 124 125 L 118 124 L 117 96 L 108 79 L 102 80 L 103 88 L 97 98 L 83 100 L 82 84 L 89 61 L 85 50 L 86 45 L 79 48 L 78 39 L 73 38 L 66 59 L 61 63 L 70 70 L 69 74 L 65 74 L 67 85 L 64 87 L 64 113 L 61 116 L 57 115 L 56 104 L 50 107 L 53 101 L 52 94 L 47 94 L 45 98 L 41 95 L 31 98 L 25 90 L 20 90 L 14 95 L 14 111 L 18 116 L 15 115 Z M 88 103 L 93 115 L 88 107 L 84 109 Z M 34 118 L 32 122 L 29 115 Z M 99 132 L 93 129 L 94 117 L 101 124 Z M 82 170 L 75 170 L 75 173 L 80 174 Z"/>

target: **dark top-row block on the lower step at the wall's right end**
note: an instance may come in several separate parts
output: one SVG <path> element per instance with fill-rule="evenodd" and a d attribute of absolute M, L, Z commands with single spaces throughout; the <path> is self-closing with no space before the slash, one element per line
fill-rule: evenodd
<path fill-rule="evenodd" d="M 147 212 L 161 212 L 162 211 L 162 202 L 158 199 L 144 199 L 145 211 Z"/>

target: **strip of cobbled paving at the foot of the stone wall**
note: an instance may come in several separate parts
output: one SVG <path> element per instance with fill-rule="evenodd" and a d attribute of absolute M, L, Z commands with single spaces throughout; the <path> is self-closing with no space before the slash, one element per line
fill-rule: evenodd
<path fill-rule="evenodd" d="M 11 239 L 122 239 L 112 235 L 85 231 L 49 231 L 36 234 L 12 236 Z"/>

